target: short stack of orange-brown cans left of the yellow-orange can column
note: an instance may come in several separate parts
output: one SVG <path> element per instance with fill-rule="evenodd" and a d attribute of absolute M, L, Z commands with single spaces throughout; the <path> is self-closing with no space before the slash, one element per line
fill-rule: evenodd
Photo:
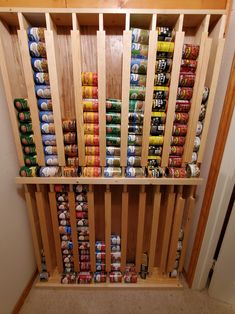
<path fill-rule="evenodd" d="M 68 119 L 62 121 L 64 133 L 64 152 L 66 157 L 66 167 L 64 167 L 65 177 L 78 177 L 81 174 L 78 165 L 78 146 L 76 120 Z"/>

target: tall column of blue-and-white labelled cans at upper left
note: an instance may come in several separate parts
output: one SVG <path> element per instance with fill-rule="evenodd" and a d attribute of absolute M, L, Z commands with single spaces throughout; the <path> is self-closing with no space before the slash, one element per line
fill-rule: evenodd
<path fill-rule="evenodd" d="M 28 46 L 31 55 L 35 94 L 39 109 L 45 164 L 48 167 L 55 167 L 58 166 L 58 156 L 44 30 L 44 28 L 40 27 L 29 27 Z M 39 176 L 42 177 L 54 175 L 58 175 L 57 168 L 45 170 L 44 167 L 42 167 L 39 171 Z"/>

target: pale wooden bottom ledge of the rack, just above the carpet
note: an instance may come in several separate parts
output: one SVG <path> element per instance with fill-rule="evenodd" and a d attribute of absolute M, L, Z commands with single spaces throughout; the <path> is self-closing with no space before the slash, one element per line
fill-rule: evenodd
<path fill-rule="evenodd" d="M 158 269 L 154 269 L 151 276 L 146 279 L 138 277 L 137 283 L 90 283 L 90 284 L 61 284 L 61 275 L 57 269 L 50 276 L 47 282 L 41 282 L 39 279 L 36 281 L 35 286 L 38 288 L 166 288 L 178 289 L 183 288 L 182 280 L 177 278 L 169 278 L 168 276 L 159 275 Z"/>

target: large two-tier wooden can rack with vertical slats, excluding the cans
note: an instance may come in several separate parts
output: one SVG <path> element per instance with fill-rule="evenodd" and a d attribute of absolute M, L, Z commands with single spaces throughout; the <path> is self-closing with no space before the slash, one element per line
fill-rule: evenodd
<path fill-rule="evenodd" d="M 14 98 L 27 98 L 35 135 L 38 164 L 45 165 L 38 119 L 34 82 L 31 75 L 27 43 L 29 26 L 44 27 L 52 91 L 55 133 L 59 165 L 65 166 L 61 122 L 76 119 L 79 165 L 85 166 L 85 139 L 82 108 L 81 71 L 98 72 L 100 165 L 106 156 L 106 98 L 122 99 L 121 167 L 127 166 L 128 101 L 130 89 L 131 27 L 150 29 L 148 69 L 154 67 L 151 47 L 157 26 L 176 30 L 172 80 L 165 125 L 161 165 L 167 166 L 174 122 L 175 101 L 183 43 L 200 44 L 198 68 L 193 90 L 183 161 L 191 161 L 193 142 L 200 113 L 204 85 L 210 88 L 198 162 L 203 162 L 206 138 L 213 111 L 218 75 L 224 48 L 225 10 L 142 10 L 142 9 L 28 9 L 0 8 L 0 57 L 3 85 L 9 108 L 19 165 L 24 165 L 20 133 L 13 107 Z M 62 49 L 63 47 L 63 49 Z M 147 72 L 143 123 L 141 166 L 147 165 L 153 94 L 153 73 Z M 141 253 L 149 255 L 149 275 L 131 287 L 180 287 L 180 278 L 169 278 L 177 250 L 177 236 L 184 230 L 179 262 L 184 258 L 195 204 L 196 186 L 202 178 L 22 178 L 16 183 L 25 188 L 35 257 L 41 271 L 40 250 L 43 247 L 51 274 L 47 283 L 38 286 L 65 287 L 59 281 L 62 271 L 54 184 L 89 186 L 88 210 L 91 244 L 91 271 L 95 270 L 95 240 L 108 241 L 111 232 L 121 235 L 122 270 L 127 260 L 135 260 L 140 270 Z M 72 202 L 72 190 L 69 202 Z M 138 200 L 138 202 L 136 201 Z M 50 210 L 49 210 L 50 208 Z M 72 229 L 75 225 L 71 221 Z M 72 237 L 76 237 L 73 231 Z M 75 239 L 75 238 L 74 238 Z M 75 241 L 76 242 L 76 241 Z M 108 254 L 107 254 L 108 255 Z M 109 265 L 110 256 L 106 258 Z M 78 268 L 76 270 L 79 270 Z M 72 285 L 84 287 L 85 285 Z M 129 287 L 124 284 L 91 284 L 85 287 Z M 68 285 L 71 287 L 71 285 Z"/>

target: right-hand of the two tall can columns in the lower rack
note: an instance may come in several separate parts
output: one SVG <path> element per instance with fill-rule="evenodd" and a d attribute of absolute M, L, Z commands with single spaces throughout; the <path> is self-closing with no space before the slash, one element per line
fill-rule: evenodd
<path fill-rule="evenodd" d="M 78 235 L 79 266 L 78 283 L 90 283 L 90 242 L 88 224 L 87 187 L 74 185 L 75 210 Z"/>

